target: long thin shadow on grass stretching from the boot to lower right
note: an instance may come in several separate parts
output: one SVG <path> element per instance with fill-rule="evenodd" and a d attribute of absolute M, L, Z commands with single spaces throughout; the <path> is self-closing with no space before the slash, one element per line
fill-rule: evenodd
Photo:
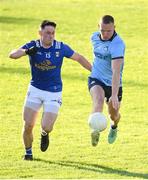
<path fill-rule="evenodd" d="M 55 165 L 64 166 L 64 167 L 72 167 L 75 169 L 86 170 L 86 171 L 91 171 L 91 172 L 98 172 L 98 173 L 104 173 L 104 174 L 118 174 L 120 176 L 148 179 L 148 174 L 129 172 L 126 170 L 110 168 L 110 167 L 102 166 L 98 164 L 83 163 L 83 162 L 76 162 L 76 161 L 47 161 L 47 160 L 39 159 L 39 158 L 35 158 L 34 160 L 48 163 L 48 164 L 55 164 Z"/>

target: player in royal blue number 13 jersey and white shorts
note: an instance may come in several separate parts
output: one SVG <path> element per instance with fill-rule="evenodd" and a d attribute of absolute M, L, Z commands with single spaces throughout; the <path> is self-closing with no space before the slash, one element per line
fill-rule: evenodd
<path fill-rule="evenodd" d="M 77 61 L 85 69 L 91 71 L 91 64 L 85 57 L 64 42 L 55 40 L 55 30 L 55 22 L 44 20 L 39 29 L 40 39 L 22 45 L 19 49 L 11 51 L 9 55 L 12 59 L 28 55 L 31 68 L 32 78 L 23 111 L 24 160 L 33 160 L 32 130 L 41 107 L 43 107 L 43 114 L 40 149 L 44 152 L 48 148 L 49 133 L 53 129 L 62 104 L 61 67 L 64 57 Z"/>

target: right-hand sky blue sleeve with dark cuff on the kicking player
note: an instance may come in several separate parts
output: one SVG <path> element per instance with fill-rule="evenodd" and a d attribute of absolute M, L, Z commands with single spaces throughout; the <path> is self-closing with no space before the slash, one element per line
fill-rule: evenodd
<path fill-rule="evenodd" d="M 124 58 L 125 53 L 125 45 L 123 42 L 112 44 L 111 47 L 111 58 L 114 59 L 120 59 Z"/>

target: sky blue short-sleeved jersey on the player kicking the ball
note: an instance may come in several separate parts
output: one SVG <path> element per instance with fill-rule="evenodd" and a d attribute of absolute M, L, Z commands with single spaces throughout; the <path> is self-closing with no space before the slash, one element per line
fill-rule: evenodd
<path fill-rule="evenodd" d="M 120 86 L 122 86 L 122 71 L 124 64 L 125 44 L 119 35 L 114 32 L 109 40 L 102 40 L 100 32 L 91 37 L 94 53 L 92 73 L 90 77 L 102 81 L 106 86 L 112 86 L 112 61 L 123 58 L 120 68 Z"/>

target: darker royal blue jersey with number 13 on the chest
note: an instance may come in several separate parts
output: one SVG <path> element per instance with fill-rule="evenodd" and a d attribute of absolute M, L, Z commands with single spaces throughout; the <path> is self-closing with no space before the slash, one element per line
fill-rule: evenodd
<path fill-rule="evenodd" d="M 35 55 L 29 56 L 31 85 L 50 92 L 62 91 L 61 67 L 63 58 L 70 58 L 74 51 L 63 42 L 53 41 L 50 48 L 44 48 L 40 40 L 31 41 L 21 48 L 38 47 Z"/>

